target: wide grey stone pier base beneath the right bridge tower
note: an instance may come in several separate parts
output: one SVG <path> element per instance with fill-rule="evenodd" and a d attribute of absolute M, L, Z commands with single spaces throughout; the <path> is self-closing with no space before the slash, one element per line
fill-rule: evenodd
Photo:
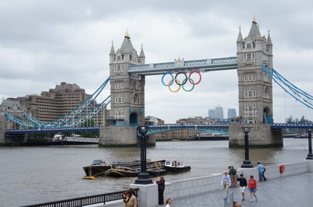
<path fill-rule="evenodd" d="M 283 133 L 281 129 L 271 129 L 265 124 L 229 124 L 229 148 L 244 148 L 245 133 L 243 127 L 250 127 L 249 147 L 270 148 L 283 147 Z"/>

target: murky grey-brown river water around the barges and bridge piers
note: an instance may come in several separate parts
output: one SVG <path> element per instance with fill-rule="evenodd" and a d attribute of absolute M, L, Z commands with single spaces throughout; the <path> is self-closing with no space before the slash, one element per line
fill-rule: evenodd
<path fill-rule="evenodd" d="M 308 139 L 284 138 L 283 148 L 249 149 L 253 166 L 303 161 Z M 228 141 L 156 142 L 147 149 L 151 160 L 180 159 L 191 171 L 165 175 L 166 182 L 223 173 L 228 166 L 239 168 L 244 149 L 229 149 Z M 140 148 L 98 148 L 97 145 L 0 147 L 0 207 L 19 207 L 68 198 L 89 196 L 129 188 L 136 178 L 97 177 L 83 180 L 84 166 L 93 160 L 140 159 Z M 266 175 L 266 173 L 265 173 Z M 155 181 L 156 178 L 153 178 Z"/>

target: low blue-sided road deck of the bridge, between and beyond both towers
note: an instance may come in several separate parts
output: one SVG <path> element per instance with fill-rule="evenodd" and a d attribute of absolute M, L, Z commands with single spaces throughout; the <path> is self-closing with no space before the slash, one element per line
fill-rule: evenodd
<path fill-rule="evenodd" d="M 313 128 L 313 124 L 270 124 L 270 127 L 272 129 L 301 129 L 301 128 L 305 129 Z M 166 132 L 178 129 L 195 129 L 228 134 L 228 124 L 167 124 L 167 125 L 149 126 L 149 131 L 147 135 L 157 132 Z M 99 130 L 100 127 L 38 128 L 38 129 L 5 130 L 5 134 L 38 133 L 38 132 L 90 132 Z"/>

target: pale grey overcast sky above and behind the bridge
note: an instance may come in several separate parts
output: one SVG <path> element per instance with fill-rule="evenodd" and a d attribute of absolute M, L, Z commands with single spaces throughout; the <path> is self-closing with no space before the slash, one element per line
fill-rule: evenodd
<path fill-rule="evenodd" d="M 274 69 L 313 94 L 313 1 L 1 0 L 0 95 L 40 94 L 60 82 L 92 94 L 109 76 L 111 41 L 117 50 L 128 29 L 146 63 L 236 56 L 239 25 L 248 35 L 253 13 L 261 35 L 268 29 Z M 101 96 L 109 95 L 107 89 Z M 192 92 L 172 93 L 161 75 L 147 76 L 146 115 L 165 123 L 207 116 L 221 105 L 238 114 L 236 70 L 202 74 Z M 313 110 L 273 84 L 274 122 L 292 115 L 313 119 Z M 1 98 L 2 100 L 2 98 Z M 98 101 L 101 101 L 99 98 Z"/>

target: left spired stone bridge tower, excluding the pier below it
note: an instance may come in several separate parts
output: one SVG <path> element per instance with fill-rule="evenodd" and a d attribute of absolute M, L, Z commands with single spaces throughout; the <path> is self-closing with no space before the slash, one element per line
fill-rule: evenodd
<path fill-rule="evenodd" d="M 129 33 L 125 33 L 120 48 L 110 51 L 111 115 L 107 125 L 144 125 L 144 87 L 145 77 L 128 74 L 129 65 L 145 64 L 141 45 L 140 55 L 134 49 Z"/>

